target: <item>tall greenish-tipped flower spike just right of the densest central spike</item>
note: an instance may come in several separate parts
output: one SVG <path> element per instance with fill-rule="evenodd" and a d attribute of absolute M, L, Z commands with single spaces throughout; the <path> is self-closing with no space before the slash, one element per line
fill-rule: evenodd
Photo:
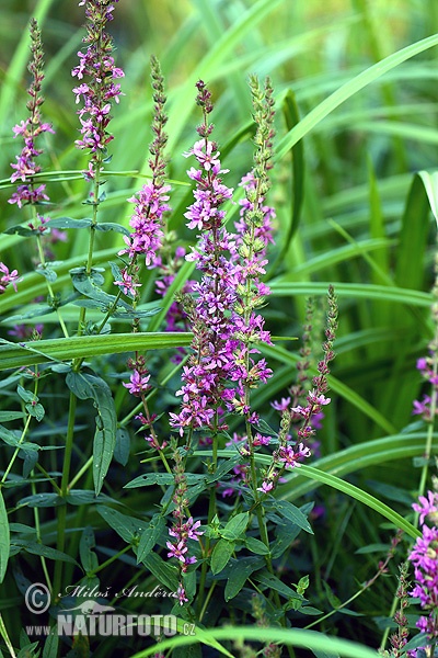
<path fill-rule="evenodd" d="M 257 313 L 269 294 L 269 288 L 261 281 L 267 264 L 266 248 L 273 242 L 272 219 L 275 212 L 265 205 L 265 195 L 269 190 L 268 170 L 272 159 L 272 139 L 274 137 L 274 102 L 269 80 L 261 89 L 256 77 L 250 79 L 253 97 L 254 120 L 257 125 L 254 143 L 256 146 L 253 170 L 242 179 L 245 190 L 242 202 L 241 219 L 238 229 L 237 252 L 234 254 L 237 298 L 232 314 L 233 339 L 232 365 L 229 379 L 232 387 L 223 393 L 223 399 L 230 411 L 242 413 L 246 420 L 257 421 L 250 406 L 250 390 L 266 383 L 273 371 L 264 359 L 255 361 L 253 354 L 260 354 L 257 343 L 272 344 L 270 334 L 264 329 L 264 318 Z M 251 439 L 250 439 L 251 440 Z"/>

